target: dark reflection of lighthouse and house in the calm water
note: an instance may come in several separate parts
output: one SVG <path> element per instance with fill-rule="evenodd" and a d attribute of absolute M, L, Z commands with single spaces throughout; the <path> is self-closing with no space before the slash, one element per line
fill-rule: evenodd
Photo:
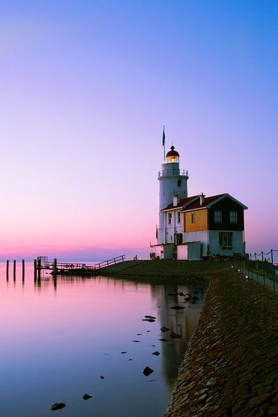
<path fill-rule="evenodd" d="M 196 294 L 195 291 L 198 291 Z M 168 389 L 172 391 L 174 379 L 177 378 L 179 366 L 183 361 L 186 348 L 193 335 L 194 329 L 202 309 L 206 290 L 204 288 L 193 288 L 192 286 L 177 286 L 167 284 L 152 285 L 152 297 L 157 302 L 158 320 L 161 327 L 168 327 L 170 330 L 161 332 L 161 338 L 167 341 L 161 341 L 161 366 L 165 375 L 165 381 Z M 179 295 L 197 295 L 199 300 L 196 304 L 184 302 L 184 297 Z M 185 306 L 184 309 L 171 309 L 172 306 Z M 171 338 L 171 333 L 181 335 L 181 338 Z"/>

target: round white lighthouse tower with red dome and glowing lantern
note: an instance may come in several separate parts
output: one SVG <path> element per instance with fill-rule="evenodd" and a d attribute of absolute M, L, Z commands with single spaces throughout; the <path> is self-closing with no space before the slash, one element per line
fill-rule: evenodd
<path fill-rule="evenodd" d="M 168 242 L 166 231 L 165 213 L 162 210 L 169 204 L 177 206 L 180 199 L 188 196 L 187 181 L 188 171 L 179 169 L 179 152 L 171 146 L 166 154 L 161 171 L 158 172 L 159 181 L 159 212 L 158 212 L 158 231 L 157 245 L 165 245 Z M 174 219 L 170 221 L 174 222 Z"/>

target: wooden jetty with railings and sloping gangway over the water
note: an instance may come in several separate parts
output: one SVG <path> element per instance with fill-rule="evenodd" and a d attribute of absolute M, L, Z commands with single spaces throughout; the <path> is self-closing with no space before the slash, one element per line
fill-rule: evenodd
<path fill-rule="evenodd" d="M 95 263 L 94 265 L 86 265 L 85 263 L 58 262 L 57 259 L 54 259 L 53 262 L 49 262 L 47 256 L 38 256 L 38 259 L 35 259 L 34 261 L 34 272 L 35 275 L 38 273 L 38 277 L 40 277 L 41 270 L 50 270 L 50 273 L 54 275 L 54 277 L 56 275 L 78 275 L 90 277 L 93 275 L 99 275 L 101 268 L 123 262 L 125 259 L 125 255 L 120 255 L 115 258 L 108 259 L 107 261 Z"/>

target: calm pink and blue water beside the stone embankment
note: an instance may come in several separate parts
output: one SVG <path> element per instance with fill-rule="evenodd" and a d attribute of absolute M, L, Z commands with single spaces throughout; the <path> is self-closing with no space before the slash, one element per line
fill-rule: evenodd
<path fill-rule="evenodd" d="M 185 303 L 180 291 L 199 291 L 199 300 Z M 31 263 L 24 283 L 19 265 L 6 281 L 1 263 L 0 415 L 40 417 L 65 402 L 61 416 L 163 416 L 205 293 L 107 277 L 54 282 L 46 273 L 34 282 Z M 186 308 L 170 309 L 178 302 Z M 145 377 L 145 366 L 154 373 Z"/>

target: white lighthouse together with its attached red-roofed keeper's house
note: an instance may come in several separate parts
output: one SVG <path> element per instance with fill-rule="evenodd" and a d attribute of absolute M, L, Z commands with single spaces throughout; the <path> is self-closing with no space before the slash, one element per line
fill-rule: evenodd
<path fill-rule="evenodd" d="M 188 172 L 179 169 L 179 154 L 173 146 L 158 181 L 159 220 L 152 258 L 195 260 L 245 254 L 245 204 L 227 193 L 188 197 Z"/>

